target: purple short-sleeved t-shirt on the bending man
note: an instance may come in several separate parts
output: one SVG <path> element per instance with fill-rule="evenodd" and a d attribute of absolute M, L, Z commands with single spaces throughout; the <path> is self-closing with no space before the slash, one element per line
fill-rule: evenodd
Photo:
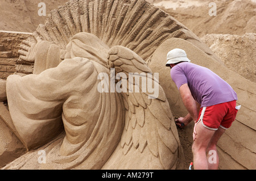
<path fill-rule="evenodd" d="M 187 83 L 193 98 L 201 107 L 237 100 L 237 94 L 232 87 L 203 66 L 181 62 L 171 69 L 171 77 L 178 89 Z"/>

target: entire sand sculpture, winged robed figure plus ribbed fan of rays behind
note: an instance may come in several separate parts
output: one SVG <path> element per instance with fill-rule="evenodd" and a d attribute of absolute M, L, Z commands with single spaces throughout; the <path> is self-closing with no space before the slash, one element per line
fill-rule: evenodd
<path fill-rule="evenodd" d="M 250 99 L 255 100 L 255 85 L 246 87 L 248 81 L 226 69 L 196 35 L 146 1 L 73 0 L 51 11 L 46 23 L 21 45 L 23 55 L 17 64 L 34 66 L 34 73 L 7 79 L 14 133 L 28 151 L 4 169 L 183 169 L 172 113 L 182 115 L 185 109 L 167 77 L 170 69 L 163 66 L 172 48 L 183 48 L 190 60 L 229 82 L 238 96 L 246 99 L 250 91 Z M 149 92 L 98 92 L 97 73 L 110 74 L 111 68 L 115 75 L 159 73 L 159 80 L 153 77 L 160 84 L 158 98 L 148 99 Z M 25 107 L 19 107 L 19 99 L 11 100 L 17 98 L 11 85 L 24 96 Z M 242 115 L 253 117 L 255 110 L 249 111 L 245 99 L 238 101 L 245 107 Z M 16 114 L 23 115 L 27 124 L 20 124 Z M 82 117 L 90 121 L 85 123 Z M 246 138 L 253 141 L 253 123 L 238 119 L 235 127 L 249 127 L 251 134 Z M 227 135 L 220 141 L 220 148 L 228 153 L 221 154 L 222 159 L 231 155 L 238 161 L 236 167 L 254 167 L 250 159 L 243 160 L 225 147 L 225 141 L 235 139 L 243 144 L 232 130 Z M 243 145 L 254 157 L 253 146 Z M 46 164 L 38 162 L 39 150 L 46 151 Z"/>

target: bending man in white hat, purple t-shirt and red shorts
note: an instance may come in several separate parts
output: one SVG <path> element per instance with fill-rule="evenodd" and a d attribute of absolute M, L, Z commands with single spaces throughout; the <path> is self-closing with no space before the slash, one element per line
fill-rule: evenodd
<path fill-rule="evenodd" d="M 179 117 L 180 128 L 195 122 L 193 130 L 194 169 L 218 169 L 217 141 L 236 119 L 237 94 L 232 87 L 213 71 L 192 64 L 182 49 L 167 54 L 166 66 L 179 89 L 188 114 Z M 208 162 L 208 152 L 216 151 L 216 163 Z"/>

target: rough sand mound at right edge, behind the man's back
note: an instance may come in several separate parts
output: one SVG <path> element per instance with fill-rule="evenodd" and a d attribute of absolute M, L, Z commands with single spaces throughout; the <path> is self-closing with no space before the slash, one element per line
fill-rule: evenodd
<path fill-rule="evenodd" d="M 256 33 L 243 36 L 209 34 L 201 38 L 225 65 L 256 82 Z"/>

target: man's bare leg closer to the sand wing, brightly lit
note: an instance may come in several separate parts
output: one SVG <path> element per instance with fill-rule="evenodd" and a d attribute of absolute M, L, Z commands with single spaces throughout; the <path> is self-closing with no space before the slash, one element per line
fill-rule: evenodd
<path fill-rule="evenodd" d="M 207 129 L 203 126 L 203 124 L 198 123 L 196 125 L 196 140 L 193 143 L 192 151 L 193 151 L 193 163 L 195 170 L 204 170 L 209 169 L 208 167 L 208 159 L 207 159 L 207 148 L 210 140 L 216 131 Z"/>

